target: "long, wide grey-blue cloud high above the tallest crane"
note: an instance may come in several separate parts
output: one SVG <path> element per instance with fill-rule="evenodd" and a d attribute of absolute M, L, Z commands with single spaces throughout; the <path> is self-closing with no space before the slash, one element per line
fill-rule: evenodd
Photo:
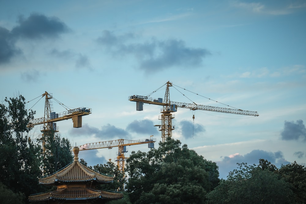
<path fill-rule="evenodd" d="M 97 41 L 116 56 L 133 55 L 139 61 L 139 68 L 147 73 L 171 67 L 199 67 L 202 65 L 203 58 L 211 54 L 203 48 L 188 47 L 182 40 L 159 41 L 152 38 L 146 43 L 127 41 L 133 38 L 133 34 L 115 35 L 113 32 L 103 31 Z"/>

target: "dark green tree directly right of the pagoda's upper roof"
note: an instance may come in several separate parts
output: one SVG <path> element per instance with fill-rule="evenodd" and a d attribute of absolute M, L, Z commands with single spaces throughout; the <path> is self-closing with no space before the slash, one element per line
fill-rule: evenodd
<path fill-rule="evenodd" d="M 97 186 L 98 189 L 109 191 L 124 191 L 124 184 L 126 182 L 125 175 L 123 172 L 119 171 L 118 166 L 115 165 L 113 162 L 109 161 L 104 165 L 95 165 L 93 167 L 93 170 L 98 173 L 114 176 L 113 183 L 101 184 Z"/>

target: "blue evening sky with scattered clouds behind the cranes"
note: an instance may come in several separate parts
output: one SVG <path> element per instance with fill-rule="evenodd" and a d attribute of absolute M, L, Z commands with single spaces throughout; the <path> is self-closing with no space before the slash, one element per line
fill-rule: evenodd
<path fill-rule="evenodd" d="M 91 108 L 82 128 L 71 120 L 57 123 L 72 144 L 150 135 L 160 141 L 154 125 L 162 107 L 144 104 L 136 111 L 128 97 L 170 81 L 185 95 L 170 87 L 172 101 L 259 113 L 175 113 L 173 138 L 217 162 L 220 177 L 237 162 L 260 158 L 278 167 L 305 165 L 305 19 L 306 3 L 299 0 L 1 0 L 1 100 L 21 94 L 30 101 L 47 91 L 68 107 Z M 165 86 L 151 97 L 164 95 Z M 37 100 L 27 107 L 39 118 L 44 102 Z M 56 102 L 53 107 L 65 111 Z M 38 138 L 39 130 L 30 136 Z M 148 150 L 128 149 L 127 157 Z M 81 151 L 80 158 L 96 165 L 114 161 L 117 151 Z"/>

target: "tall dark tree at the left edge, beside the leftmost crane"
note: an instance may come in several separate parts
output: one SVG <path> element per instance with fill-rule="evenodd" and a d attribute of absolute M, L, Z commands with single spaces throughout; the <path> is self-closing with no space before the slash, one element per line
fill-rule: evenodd
<path fill-rule="evenodd" d="M 35 111 L 27 111 L 25 98 L 5 98 L 0 105 L 0 182 L 25 197 L 38 191 L 39 146 L 28 139 L 29 120 Z"/>

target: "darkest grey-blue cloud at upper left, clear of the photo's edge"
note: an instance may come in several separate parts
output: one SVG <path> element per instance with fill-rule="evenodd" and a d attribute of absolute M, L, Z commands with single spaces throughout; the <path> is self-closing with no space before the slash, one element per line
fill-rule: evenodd
<path fill-rule="evenodd" d="M 47 17 L 42 14 L 31 14 L 28 18 L 19 17 L 19 26 L 12 29 L 15 37 L 41 39 L 44 37 L 56 38 L 59 34 L 68 32 L 65 23 L 56 17 Z"/>

